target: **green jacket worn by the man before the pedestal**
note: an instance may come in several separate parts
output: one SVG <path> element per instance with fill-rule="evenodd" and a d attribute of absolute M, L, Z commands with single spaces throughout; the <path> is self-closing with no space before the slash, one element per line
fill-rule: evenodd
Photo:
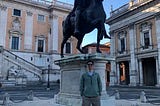
<path fill-rule="evenodd" d="M 90 76 L 84 73 L 80 80 L 80 93 L 81 96 L 96 97 L 100 96 L 102 91 L 102 83 L 98 73 L 93 72 Z"/>

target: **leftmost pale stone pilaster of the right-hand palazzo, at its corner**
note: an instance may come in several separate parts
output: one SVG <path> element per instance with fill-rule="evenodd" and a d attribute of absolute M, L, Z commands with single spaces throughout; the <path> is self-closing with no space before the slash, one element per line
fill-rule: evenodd
<path fill-rule="evenodd" d="M 115 38 L 114 31 L 110 32 L 111 36 L 111 56 L 115 58 Z M 110 71 L 110 86 L 115 85 L 116 83 L 116 63 L 115 61 L 111 61 L 111 71 Z"/>

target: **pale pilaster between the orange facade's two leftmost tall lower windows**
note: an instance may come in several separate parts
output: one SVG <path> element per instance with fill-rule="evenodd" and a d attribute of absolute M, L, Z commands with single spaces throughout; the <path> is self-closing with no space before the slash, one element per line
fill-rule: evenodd
<path fill-rule="evenodd" d="M 32 50 L 32 38 L 33 38 L 33 13 L 30 11 L 26 12 L 25 22 L 25 35 L 24 35 L 24 49 Z"/>

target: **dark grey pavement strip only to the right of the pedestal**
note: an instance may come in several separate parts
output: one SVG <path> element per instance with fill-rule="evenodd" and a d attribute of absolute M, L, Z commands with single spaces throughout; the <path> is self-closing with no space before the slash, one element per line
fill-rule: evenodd
<path fill-rule="evenodd" d="M 145 93 L 147 103 L 160 106 L 160 88 L 158 87 L 107 87 L 107 93 L 109 96 L 115 95 L 116 90 L 119 92 L 120 100 L 128 101 L 140 99 L 140 95 L 143 91 Z"/>

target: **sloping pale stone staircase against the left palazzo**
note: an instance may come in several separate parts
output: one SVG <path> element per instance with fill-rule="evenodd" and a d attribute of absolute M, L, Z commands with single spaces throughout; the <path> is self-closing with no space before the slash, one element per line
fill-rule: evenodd
<path fill-rule="evenodd" d="M 21 67 L 22 69 L 25 69 L 26 71 L 29 71 L 36 75 L 39 80 L 42 80 L 42 70 L 37 67 L 36 65 L 26 61 L 25 59 L 15 55 L 14 53 L 10 52 L 9 50 L 3 49 L 1 50 L 2 56 L 5 60 Z"/>

